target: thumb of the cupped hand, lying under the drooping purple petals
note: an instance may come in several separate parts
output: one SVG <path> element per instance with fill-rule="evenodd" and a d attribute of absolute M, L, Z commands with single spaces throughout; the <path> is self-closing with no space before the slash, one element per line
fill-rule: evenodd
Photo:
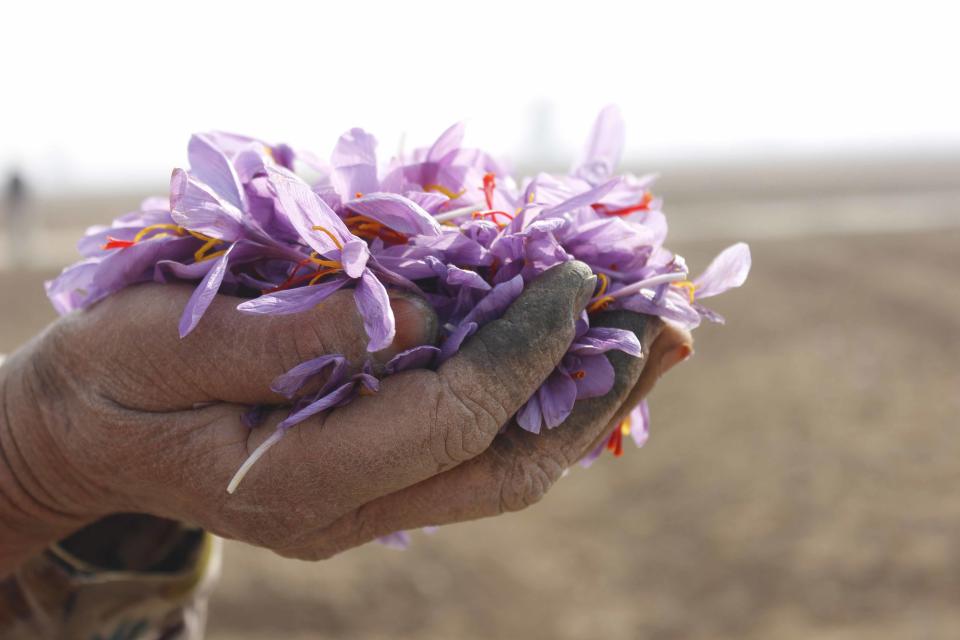
<path fill-rule="evenodd" d="M 149 284 L 112 296 L 89 311 L 69 316 L 81 344 L 97 353 L 90 366 L 109 367 L 108 379 L 129 398 L 120 403 L 143 410 L 190 408 L 197 403 L 241 404 L 285 400 L 270 389 L 280 374 L 326 354 L 361 363 L 368 337 L 352 292 L 338 291 L 309 311 L 252 316 L 237 311 L 238 298 L 217 296 L 196 329 L 181 339 L 180 314 L 190 287 Z M 397 335 L 376 354 L 380 361 L 436 340 L 436 314 L 415 296 L 393 292 Z M 73 341 L 76 342 L 76 341 Z M 117 382 L 120 381 L 120 382 Z M 144 397 L 143 388 L 158 393 Z M 145 406 L 146 405 L 146 406 Z"/>

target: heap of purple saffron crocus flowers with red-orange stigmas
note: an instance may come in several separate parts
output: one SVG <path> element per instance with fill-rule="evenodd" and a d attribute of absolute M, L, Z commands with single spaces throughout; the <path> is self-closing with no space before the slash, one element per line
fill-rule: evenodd
<path fill-rule="evenodd" d="M 597 275 L 597 291 L 563 361 L 517 413 L 520 428 L 533 433 L 561 426 L 576 400 L 611 389 L 604 353 L 641 356 L 637 336 L 591 326 L 592 314 L 628 309 L 687 328 L 722 322 L 701 301 L 744 282 L 749 249 L 735 244 L 690 278 L 683 258 L 663 246 L 667 221 L 651 192 L 654 177 L 615 174 L 624 141 L 616 108 L 600 113 L 567 175 L 518 181 L 462 138 L 463 126 L 454 125 L 430 147 L 381 166 L 375 139 L 362 129 L 340 137 L 329 163 L 284 144 L 197 134 L 190 168 L 173 172 L 169 197 L 89 229 L 79 244 L 84 259 L 48 282 L 47 294 L 68 313 L 142 282 L 192 283 L 179 326 L 185 336 L 218 293 L 244 298 L 241 312 L 270 315 L 302 312 L 351 289 L 371 353 L 395 335 L 387 290 L 423 296 L 440 320 L 438 346 L 398 354 L 382 376 L 438 367 L 539 274 L 580 260 Z M 328 354 L 273 388 L 294 398 L 320 374 L 323 387 L 293 402 L 229 491 L 288 429 L 379 385 L 370 363 L 356 373 L 342 355 Z M 255 426 L 258 414 L 253 409 L 245 420 Z M 620 455 L 627 434 L 643 444 L 648 423 L 641 404 L 590 459 L 604 447 Z"/>

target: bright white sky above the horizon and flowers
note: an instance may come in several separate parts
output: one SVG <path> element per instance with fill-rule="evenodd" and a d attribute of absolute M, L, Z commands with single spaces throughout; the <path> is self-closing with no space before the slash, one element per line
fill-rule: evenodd
<path fill-rule="evenodd" d="M 326 155 L 362 126 L 390 155 L 457 120 L 494 152 L 565 158 L 611 102 L 640 159 L 960 148 L 954 6 L 4 3 L 0 167 L 157 184 L 193 131 Z"/>

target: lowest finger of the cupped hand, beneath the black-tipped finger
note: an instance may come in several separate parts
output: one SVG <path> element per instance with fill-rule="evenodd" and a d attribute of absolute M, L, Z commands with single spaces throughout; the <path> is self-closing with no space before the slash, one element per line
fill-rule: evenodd
<path fill-rule="evenodd" d="M 563 470 L 589 451 L 606 425 L 631 397 L 645 369 L 659 368 L 652 344 L 662 323 L 648 316 L 611 312 L 604 325 L 633 330 L 644 358 L 609 355 L 616 372 L 603 397 L 576 403 L 570 417 L 551 431 L 534 435 L 512 425 L 483 454 L 455 469 L 374 500 L 318 532 L 283 555 L 328 557 L 393 531 L 472 520 L 525 508 L 538 500 Z M 646 365 L 646 366 L 645 366 Z"/>

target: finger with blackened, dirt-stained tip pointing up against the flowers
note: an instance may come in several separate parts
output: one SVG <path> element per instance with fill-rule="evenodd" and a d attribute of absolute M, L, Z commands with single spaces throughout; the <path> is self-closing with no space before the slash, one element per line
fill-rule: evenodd
<path fill-rule="evenodd" d="M 314 500 L 327 511 L 346 513 L 480 454 L 560 362 L 594 286 L 582 263 L 548 270 L 438 371 L 390 376 L 375 395 L 298 425 L 238 493 L 269 494 L 272 473 L 295 475 L 324 487 Z"/>

